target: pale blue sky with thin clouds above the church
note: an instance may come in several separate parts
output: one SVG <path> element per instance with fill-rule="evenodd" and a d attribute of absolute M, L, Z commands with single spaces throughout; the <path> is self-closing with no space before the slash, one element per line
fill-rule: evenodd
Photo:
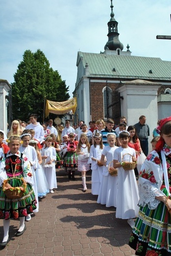
<path fill-rule="evenodd" d="M 77 52 L 100 53 L 108 41 L 111 0 L 0 0 L 0 79 L 13 75 L 26 50 L 40 49 L 75 88 Z M 132 56 L 171 61 L 171 0 L 113 0 L 119 39 Z"/>

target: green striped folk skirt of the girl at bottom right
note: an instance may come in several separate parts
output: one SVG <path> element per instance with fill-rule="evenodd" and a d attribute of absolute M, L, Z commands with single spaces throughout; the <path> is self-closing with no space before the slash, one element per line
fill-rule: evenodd
<path fill-rule="evenodd" d="M 129 246 L 139 256 L 171 256 L 171 215 L 163 202 L 154 210 L 140 207 Z"/>

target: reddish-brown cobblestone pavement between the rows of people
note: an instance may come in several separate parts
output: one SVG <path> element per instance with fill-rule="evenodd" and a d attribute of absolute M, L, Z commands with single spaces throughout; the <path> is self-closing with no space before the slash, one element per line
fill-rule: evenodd
<path fill-rule="evenodd" d="M 115 219 L 115 208 L 96 203 L 91 194 L 91 172 L 83 192 L 81 176 L 69 181 L 57 170 L 57 190 L 39 199 L 39 212 L 26 222 L 27 229 L 15 236 L 19 222 L 11 220 L 10 241 L 0 256 L 134 256 L 128 246 L 131 227 Z M 0 220 L 0 241 L 3 237 Z"/>

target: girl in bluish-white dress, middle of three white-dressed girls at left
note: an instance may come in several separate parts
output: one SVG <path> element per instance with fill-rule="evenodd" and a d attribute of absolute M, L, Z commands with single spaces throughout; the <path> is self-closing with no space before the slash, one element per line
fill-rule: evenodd
<path fill-rule="evenodd" d="M 36 182 L 37 182 L 37 194 L 38 197 L 42 198 L 45 197 L 47 193 L 49 193 L 49 185 L 42 167 L 42 156 L 37 147 L 38 141 L 30 140 L 29 145 L 34 147 L 37 153 L 38 163 L 37 163 L 37 170 L 35 172 L 36 175 Z"/>

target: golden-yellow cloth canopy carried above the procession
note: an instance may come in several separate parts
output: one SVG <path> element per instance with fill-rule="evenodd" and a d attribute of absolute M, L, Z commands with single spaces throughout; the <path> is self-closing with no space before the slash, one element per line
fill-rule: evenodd
<path fill-rule="evenodd" d="M 55 102 L 46 100 L 46 109 L 45 109 L 45 117 L 49 116 L 49 113 L 53 114 L 66 114 L 68 111 L 72 110 L 75 113 L 77 107 L 77 98 L 71 98 L 67 101 Z"/>

